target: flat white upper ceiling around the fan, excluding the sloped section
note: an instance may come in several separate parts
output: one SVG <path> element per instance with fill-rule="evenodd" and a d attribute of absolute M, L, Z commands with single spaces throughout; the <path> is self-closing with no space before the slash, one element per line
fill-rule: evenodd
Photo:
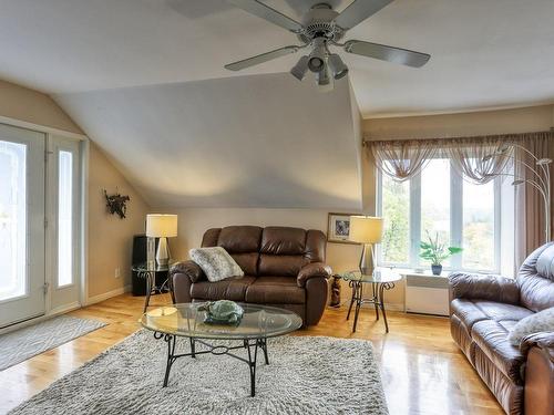
<path fill-rule="evenodd" d="M 314 2 L 268 1 L 297 19 Z M 0 0 L 0 77 L 54 93 L 234 76 L 225 63 L 296 41 L 225 0 Z M 347 39 L 432 59 L 414 70 L 346 55 L 362 115 L 553 102 L 553 15 L 552 0 L 396 0 Z M 296 59 L 239 75 L 286 72 Z"/>

